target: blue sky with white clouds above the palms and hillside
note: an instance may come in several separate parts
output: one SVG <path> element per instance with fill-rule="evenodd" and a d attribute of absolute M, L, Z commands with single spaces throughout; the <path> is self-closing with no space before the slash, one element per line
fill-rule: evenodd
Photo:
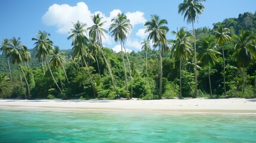
<path fill-rule="evenodd" d="M 105 29 L 108 30 L 111 18 L 122 12 L 127 14 L 134 27 L 131 36 L 127 39 L 126 48 L 139 51 L 140 42 L 147 38 L 144 34 L 144 22 L 150 20 L 150 15 L 159 15 L 161 19 L 168 21 L 170 31 L 179 27 L 186 26 L 192 29 L 192 24 L 187 24 L 183 20 L 183 15 L 178 14 L 178 4 L 182 0 L 110 0 L 110 1 L 1 1 L 0 8 L 0 40 L 4 38 L 20 37 L 21 43 L 28 48 L 33 48 L 35 33 L 38 30 L 45 30 L 51 33 L 50 39 L 54 45 L 61 49 L 70 49 L 71 41 L 67 41 L 67 33 L 72 28 L 72 22 L 77 20 L 92 24 L 90 19 L 92 14 L 100 13 L 106 23 Z M 255 13 L 255 0 L 206 0 L 202 3 L 205 11 L 199 16 L 199 23 L 195 27 L 212 28 L 212 23 L 223 21 L 225 18 L 238 17 L 238 14 L 251 12 Z M 173 36 L 169 33 L 169 39 Z M 118 51 L 119 42 L 116 43 L 106 34 L 106 41 L 103 43 L 108 48 Z"/>

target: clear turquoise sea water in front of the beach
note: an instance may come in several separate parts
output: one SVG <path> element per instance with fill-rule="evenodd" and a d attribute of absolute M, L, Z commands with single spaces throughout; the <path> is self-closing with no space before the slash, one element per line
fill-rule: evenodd
<path fill-rule="evenodd" d="M 256 142 L 256 116 L 0 110 L 0 142 Z"/>

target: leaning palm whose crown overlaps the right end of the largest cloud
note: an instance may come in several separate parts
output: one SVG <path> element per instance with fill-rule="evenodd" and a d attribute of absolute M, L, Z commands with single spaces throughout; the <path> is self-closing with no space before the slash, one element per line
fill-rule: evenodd
<path fill-rule="evenodd" d="M 72 41 L 72 46 L 73 46 L 73 57 L 82 57 L 82 60 L 84 60 L 84 64 L 85 67 L 88 67 L 87 62 L 85 61 L 85 57 L 92 57 L 92 55 L 90 53 L 87 52 L 88 49 L 88 38 L 84 35 L 84 33 L 87 32 L 87 30 L 85 29 L 85 26 L 87 26 L 87 24 L 85 23 L 81 23 L 81 22 L 77 22 L 73 24 L 74 29 L 70 29 L 69 32 L 69 37 L 67 37 L 67 39 L 73 39 Z M 95 94 L 95 89 L 94 89 L 94 83 L 92 82 L 91 79 L 91 74 L 89 73 L 89 77 L 90 77 L 90 82 L 91 82 L 91 86 L 92 86 L 92 90 L 93 90 L 93 95 L 94 98 L 96 98 L 96 94 Z"/>

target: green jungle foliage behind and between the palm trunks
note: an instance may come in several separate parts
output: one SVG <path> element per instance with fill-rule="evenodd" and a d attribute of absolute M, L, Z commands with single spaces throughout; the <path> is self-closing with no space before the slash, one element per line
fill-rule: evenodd
<path fill-rule="evenodd" d="M 94 18 L 97 18 L 97 15 Z M 81 26 L 81 29 L 83 28 L 82 25 L 79 25 L 81 23 L 78 22 L 76 24 L 78 24 L 76 28 L 79 29 L 79 26 Z M 220 45 L 215 37 L 220 24 L 230 29 L 230 39 L 224 42 L 223 45 Z M 208 43 L 208 50 L 220 53 L 216 55 L 217 58 L 214 58 L 214 61 L 197 61 L 198 97 L 210 97 L 209 82 L 211 82 L 212 98 L 255 98 L 256 13 L 239 14 L 238 18 L 227 18 L 223 22 L 214 23 L 213 26 L 212 29 L 206 27 L 195 29 L 196 41 L 200 43 L 205 38 L 212 38 L 214 41 Z M 91 29 L 93 30 L 94 27 Z M 241 35 L 242 29 L 245 35 Z M 192 31 L 190 33 L 193 35 Z M 77 34 L 79 35 L 79 33 Z M 246 37 L 246 35 L 249 36 Z M 72 36 L 72 32 L 70 32 L 70 36 Z M 247 38 L 246 42 L 241 43 L 246 45 L 246 47 L 239 47 L 240 43 L 236 40 L 239 39 L 239 36 L 244 36 L 244 39 Z M 48 38 L 50 39 L 50 36 Z M 192 38 L 187 40 L 189 40 L 190 45 L 193 45 Z M 79 41 L 84 43 L 79 43 Z M 9 40 L 9 42 L 13 41 Z M 121 42 L 125 41 L 121 39 Z M 78 36 L 78 39 L 72 42 L 72 49 L 62 49 L 53 52 L 53 49 L 50 48 L 49 51 L 46 51 L 45 57 L 38 55 L 39 53 L 36 51 L 36 48 L 26 49 L 25 46 L 17 46 L 18 52 L 23 57 L 21 63 L 19 63 L 18 61 L 12 62 L 12 60 L 18 60 L 18 58 L 10 54 L 11 50 L 13 50 L 11 47 L 7 48 L 10 50 L 9 52 L 8 50 L 5 51 L 3 41 L 1 43 L 2 55 L 0 55 L 0 97 L 30 99 L 116 99 L 118 97 L 129 99 L 132 97 L 142 100 L 154 100 L 159 98 L 159 90 L 162 90 L 162 98 L 193 97 L 195 90 L 193 48 L 187 47 L 191 54 L 181 58 L 180 70 L 180 61 L 175 58 L 174 53 L 170 50 L 174 47 L 175 42 L 172 40 L 168 40 L 168 42 L 169 48 L 166 49 L 164 49 L 164 46 L 158 45 L 164 50 L 161 54 L 163 77 L 161 89 L 159 88 L 161 74 L 159 74 L 158 46 L 157 48 L 152 47 L 147 50 L 143 49 L 142 51 L 127 53 L 129 58 L 128 66 L 128 58 L 125 52 L 123 53 L 125 63 L 123 63 L 121 52 L 116 53 L 112 49 L 103 48 L 101 41 L 97 39 L 96 35 L 91 33 L 87 38 L 85 36 Z M 158 43 L 156 42 L 156 44 Z M 53 46 L 53 43 L 50 42 L 50 45 Z M 197 44 L 196 49 L 200 49 L 203 46 L 203 44 Z M 241 63 L 239 54 L 244 50 L 247 53 L 246 56 L 249 57 L 244 57 L 244 64 L 239 64 L 239 62 Z M 30 53 L 30 58 L 26 56 L 28 52 Z M 248 53 L 251 54 L 248 55 Z M 223 54 L 225 61 L 223 61 Z M 57 60 L 55 64 L 53 63 L 54 60 L 51 59 L 53 57 Z M 60 60 L 60 63 L 57 63 L 59 58 L 64 60 Z M 8 61 L 10 63 L 11 76 Z M 209 63 L 210 66 L 208 68 L 207 62 L 214 62 L 214 64 Z M 225 71 L 223 70 L 223 62 L 225 62 Z M 131 70 L 131 73 L 129 73 L 129 70 Z M 112 74 L 110 74 L 110 71 Z M 125 76 L 125 73 L 127 76 Z M 209 80 L 209 76 L 211 80 Z M 226 95 L 223 77 L 226 78 Z M 127 87 L 125 78 L 127 78 Z M 132 81 L 132 84 L 130 81 Z M 30 91 L 30 97 L 28 91 Z"/>

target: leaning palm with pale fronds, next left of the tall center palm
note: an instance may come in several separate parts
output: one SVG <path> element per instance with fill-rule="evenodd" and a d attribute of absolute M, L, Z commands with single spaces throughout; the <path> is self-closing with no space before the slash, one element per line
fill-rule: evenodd
<path fill-rule="evenodd" d="M 88 30 L 90 30 L 89 31 L 90 38 L 93 39 L 98 45 L 98 46 L 94 45 L 94 51 L 99 51 L 101 53 L 101 55 L 103 55 L 104 61 L 107 66 L 107 70 L 109 70 L 109 74 L 110 74 L 110 78 L 112 80 L 112 85 L 113 85 L 114 91 L 116 91 L 116 86 L 115 86 L 114 78 L 112 75 L 112 70 L 109 66 L 109 63 L 108 63 L 106 56 L 102 49 L 103 48 L 102 47 L 102 38 L 106 39 L 104 36 L 104 33 L 107 33 L 107 30 L 102 28 L 103 24 L 106 23 L 106 21 L 101 22 L 102 18 L 103 17 L 100 17 L 100 14 L 94 15 L 92 17 L 92 21 L 93 21 L 94 25 L 89 27 Z M 95 57 L 96 57 L 95 59 L 97 60 L 97 55 L 95 55 Z M 99 72 L 100 72 L 100 70 L 99 70 Z"/>

